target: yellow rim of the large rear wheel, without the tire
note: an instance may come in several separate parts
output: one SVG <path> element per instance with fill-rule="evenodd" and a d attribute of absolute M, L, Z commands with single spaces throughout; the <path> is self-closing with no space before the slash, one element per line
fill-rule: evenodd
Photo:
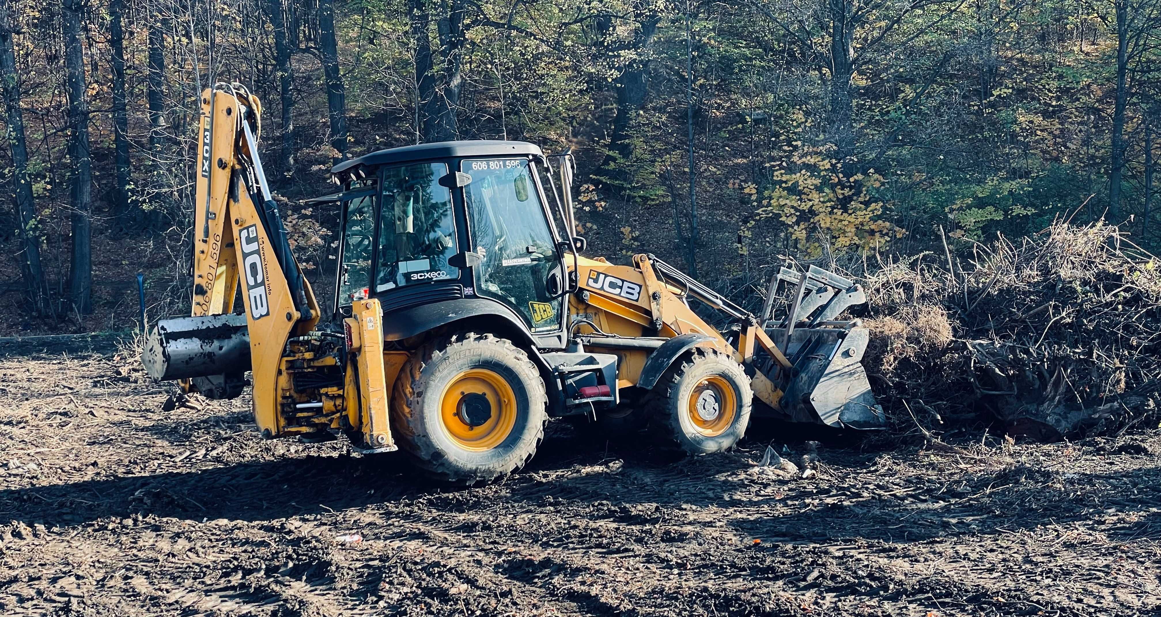
<path fill-rule="evenodd" d="M 515 426 L 515 392 L 499 373 L 470 369 L 456 375 L 440 397 L 444 429 L 466 450 L 491 450 Z"/>

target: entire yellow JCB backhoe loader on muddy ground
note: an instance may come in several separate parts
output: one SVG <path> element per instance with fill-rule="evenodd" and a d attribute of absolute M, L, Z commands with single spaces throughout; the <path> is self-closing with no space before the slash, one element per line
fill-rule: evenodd
<path fill-rule="evenodd" d="M 193 311 L 158 321 L 142 361 L 211 399 L 240 395 L 250 371 L 265 438 L 345 433 L 360 452 L 403 450 L 475 484 L 525 465 L 549 418 L 690 455 L 731 448 L 755 404 L 884 426 L 860 364 L 867 332 L 838 319 L 866 300 L 858 285 L 784 268 L 752 314 L 652 255 L 583 256 L 572 158 L 528 143 L 336 165 L 342 190 L 310 201 L 342 220 L 324 311 L 266 182 L 258 99 L 218 84 L 201 104 Z"/>

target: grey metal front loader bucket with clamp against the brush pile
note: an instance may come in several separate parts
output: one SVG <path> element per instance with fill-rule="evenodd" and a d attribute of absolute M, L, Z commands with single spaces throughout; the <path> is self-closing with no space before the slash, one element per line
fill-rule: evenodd
<path fill-rule="evenodd" d="M 776 320 L 780 286 L 789 297 L 786 317 Z M 861 364 L 870 332 L 858 320 L 836 319 L 864 303 L 859 285 L 814 266 L 806 274 L 783 268 L 771 281 L 762 317 L 766 334 L 794 365 L 780 404 L 791 420 L 838 428 L 887 427 Z"/>

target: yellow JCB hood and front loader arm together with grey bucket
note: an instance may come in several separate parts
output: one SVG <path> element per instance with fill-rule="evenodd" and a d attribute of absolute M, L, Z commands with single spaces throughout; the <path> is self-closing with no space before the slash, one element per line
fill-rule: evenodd
<path fill-rule="evenodd" d="M 678 355 L 692 347 L 729 354 L 747 369 L 753 395 L 795 421 L 856 428 L 881 424 L 881 412 L 859 363 L 866 329 L 857 321 L 830 320 L 846 306 L 864 302 L 858 299 L 861 291 L 853 283 L 812 269 L 794 280 L 798 296 L 793 310 L 800 312 L 796 306 L 809 288 L 815 304 L 801 306 L 810 308 L 806 311 L 810 314 L 803 315 L 813 315 L 806 324 L 810 327 L 795 331 L 799 319 L 794 318 L 767 332 L 764 322 L 770 303 L 759 318 L 654 255 L 634 255 L 633 266 L 585 257 L 571 263 L 580 284 L 572 312 L 592 324 L 582 321 L 579 328 L 587 332 L 579 340 L 591 348 L 619 354 L 626 366 L 619 379 L 621 386 L 651 387 L 658 371 L 676 360 L 634 351 L 633 347 L 657 343 L 657 354 L 663 354 L 666 349 L 659 347 L 659 340 L 682 337 L 685 346 L 670 346 Z M 780 276 L 785 280 L 789 275 Z M 688 305 L 691 298 L 726 315 L 729 332 L 715 329 L 694 313 Z M 823 320 L 819 315 L 830 317 Z M 787 354 L 787 349 L 794 354 Z M 646 370 L 636 370 L 639 366 Z"/>

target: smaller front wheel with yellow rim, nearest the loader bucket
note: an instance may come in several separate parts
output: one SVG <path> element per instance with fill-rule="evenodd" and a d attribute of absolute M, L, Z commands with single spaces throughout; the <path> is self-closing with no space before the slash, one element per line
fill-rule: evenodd
<path fill-rule="evenodd" d="M 663 443 L 687 455 L 734 447 L 750 423 L 753 390 L 734 358 L 698 349 L 673 363 L 649 397 L 649 420 Z"/>

